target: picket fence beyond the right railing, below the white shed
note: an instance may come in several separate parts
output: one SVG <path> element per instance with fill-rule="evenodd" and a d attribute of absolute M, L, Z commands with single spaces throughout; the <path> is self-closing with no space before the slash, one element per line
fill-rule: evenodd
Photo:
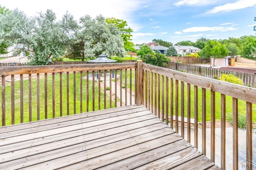
<path fill-rule="evenodd" d="M 212 67 L 204 67 L 200 65 L 191 65 L 191 64 L 184 64 L 184 63 L 175 63 L 175 62 L 168 62 L 167 65 L 163 67 L 182 71 L 186 73 L 192 73 L 196 75 L 202 75 L 204 77 L 209 77 L 212 79 L 218 79 L 222 74 L 233 74 L 234 76 L 242 79 L 244 85 L 250 87 L 256 87 L 256 75 L 250 73 L 242 73 L 238 71 L 230 71 L 230 70 L 222 70 L 218 68 Z"/>

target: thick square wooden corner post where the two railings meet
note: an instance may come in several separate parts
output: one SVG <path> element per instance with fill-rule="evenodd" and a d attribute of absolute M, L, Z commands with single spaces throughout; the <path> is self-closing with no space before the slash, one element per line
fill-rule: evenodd
<path fill-rule="evenodd" d="M 137 105 L 142 105 L 142 95 L 143 95 L 143 75 L 142 75 L 142 60 L 137 60 L 137 82 L 136 82 L 136 101 Z"/>

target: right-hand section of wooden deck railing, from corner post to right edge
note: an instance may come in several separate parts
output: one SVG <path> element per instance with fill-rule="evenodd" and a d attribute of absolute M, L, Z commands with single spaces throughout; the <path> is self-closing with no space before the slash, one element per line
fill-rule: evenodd
<path fill-rule="evenodd" d="M 203 154 L 208 155 L 212 161 L 216 162 L 216 159 L 219 159 L 219 166 L 222 169 L 226 169 L 226 160 L 230 158 L 230 162 L 233 162 L 231 168 L 238 169 L 241 165 L 238 160 L 238 141 L 241 140 L 241 136 L 240 139 L 238 138 L 238 112 L 245 112 L 246 161 L 242 163 L 246 166 L 242 168 L 252 169 L 252 165 L 255 167 L 255 158 L 252 158 L 252 105 L 256 103 L 256 89 L 146 63 L 142 63 L 142 69 L 142 104 L 179 132 L 188 142 L 202 150 Z M 227 103 L 226 99 L 231 100 L 232 103 Z M 242 107 L 245 107 L 246 111 Z M 233 115 L 231 154 L 226 154 L 227 147 L 230 147 L 226 146 L 227 111 Z M 210 140 L 206 140 L 206 117 L 210 117 Z M 216 119 L 221 121 L 220 140 L 216 139 L 215 134 Z M 199 121 L 202 122 L 202 130 L 198 127 Z M 202 131 L 202 136 L 199 136 L 199 130 Z M 199 145 L 199 141 L 202 144 Z M 215 152 L 216 148 L 220 148 L 220 153 Z M 220 157 L 215 157 L 216 155 Z M 229 168 L 230 166 L 227 169 Z"/>

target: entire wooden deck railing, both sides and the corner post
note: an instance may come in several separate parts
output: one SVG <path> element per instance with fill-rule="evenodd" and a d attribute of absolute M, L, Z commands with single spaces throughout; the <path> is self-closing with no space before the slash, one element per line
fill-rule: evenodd
<path fill-rule="evenodd" d="M 94 75 L 97 73 L 101 76 L 98 75 L 96 81 L 97 76 Z M 238 169 L 238 141 L 241 138 L 238 136 L 238 112 L 244 112 L 244 164 L 252 169 L 255 160 L 252 157 L 254 88 L 148 65 L 141 60 L 137 63 L 2 67 L 0 75 L 2 126 L 136 103 L 147 107 L 188 142 L 201 149 L 203 154 L 207 156 L 210 153 L 212 161 L 220 159 L 222 169 L 226 168 L 226 160 L 230 158 L 232 168 Z M 231 99 L 232 104 L 227 103 L 227 99 Z M 233 115 L 232 154 L 226 154 L 226 112 Z M 210 140 L 206 139 L 208 116 Z M 215 122 L 218 119 L 221 121 L 221 137 L 216 142 Z M 202 122 L 202 136 L 199 135 L 198 122 Z M 220 156 L 216 153 L 218 147 Z"/>

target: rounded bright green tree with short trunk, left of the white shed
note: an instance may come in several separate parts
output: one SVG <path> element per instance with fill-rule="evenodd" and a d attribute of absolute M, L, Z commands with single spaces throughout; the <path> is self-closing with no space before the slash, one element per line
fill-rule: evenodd
<path fill-rule="evenodd" d="M 215 66 L 215 59 L 223 58 L 228 55 L 228 49 L 217 40 L 210 40 L 206 43 L 205 47 L 200 51 L 203 57 L 213 58 L 213 66 Z"/>

